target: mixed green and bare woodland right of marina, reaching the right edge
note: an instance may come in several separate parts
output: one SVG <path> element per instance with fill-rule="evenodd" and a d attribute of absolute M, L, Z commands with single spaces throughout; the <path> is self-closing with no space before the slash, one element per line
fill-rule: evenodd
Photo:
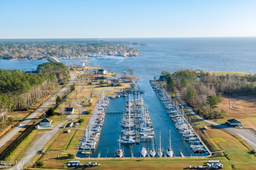
<path fill-rule="evenodd" d="M 162 71 L 170 88 L 180 89 L 183 98 L 197 113 L 209 119 L 224 118 L 226 112 L 217 107 L 222 94 L 256 95 L 256 75 L 210 75 L 208 72 L 198 73 L 192 69 L 178 70 L 172 75 Z"/>

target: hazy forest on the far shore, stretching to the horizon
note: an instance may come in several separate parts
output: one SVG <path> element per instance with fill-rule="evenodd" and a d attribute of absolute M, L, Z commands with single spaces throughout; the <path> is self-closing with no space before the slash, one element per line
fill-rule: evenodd
<path fill-rule="evenodd" d="M 137 52 L 129 45 L 145 45 L 144 43 L 130 43 L 124 41 L 98 41 L 94 39 L 10 39 L 0 40 L 0 56 L 8 58 L 23 58 L 27 54 L 80 55 L 86 52 Z"/>

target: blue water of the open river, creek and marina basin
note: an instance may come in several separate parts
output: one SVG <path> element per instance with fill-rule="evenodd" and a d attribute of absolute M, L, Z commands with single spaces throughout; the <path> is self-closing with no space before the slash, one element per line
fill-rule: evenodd
<path fill-rule="evenodd" d="M 125 60 L 119 56 L 106 56 L 88 60 L 91 66 L 99 65 L 101 68 L 113 72 L 123 72 L 128 69 L 134 71 L 135 76 L 140 77 L 138 85 L 145 90 L 142 94 L 145 106 L 148 106 L 153 127 L 156 134 L 156 147 L 159 146 L 159 131 L 161 130 L 161 145 L 166 150 L 169 143 L 169 129 L 171 130 L 172 147 L 174 155 L 179 156 L 179 149 L 185 156 L 188 147 L 179 137 L 173 122 L 166 114 L 164 107 L 150 86 L 149 80 L 158 77 L 161 71 L 174 72 L 179 69 L 200 69 L 208 71 L 244 71 L 256 73 L 256 38 L 132 38 L 132 39 L 103 39 L 129 42 L 143 42 L 148 46 L 134 45 L 144 56 L 131 57 Z M 25 71 L 35 70 L 37 65 L 47 60 L 0 60 L 0 68 L 21 69 Z M 84 60 L 62 60 L 64 64 L 80 63 Z M 127 100 L 127 99 L 126 99 Z M 124 110 L 125 98 L 111 99 L 108 111 Z M 118 148 L 118 138 L 121 128 L 121 114 L 107 114 L 102 128 L 99 147 L 93 157 L 114 157 L 115 148 Z M 125 157 L 139 156 L 140 145 L 122 145 Z M 150 148 L 150 143 L 146 143 Z M 108 152 L 109 150 L 109 152 Z M 192 152 L 193 153 L 193 152 Z M 82 155 L 78 155 L 81 156 Z"/>

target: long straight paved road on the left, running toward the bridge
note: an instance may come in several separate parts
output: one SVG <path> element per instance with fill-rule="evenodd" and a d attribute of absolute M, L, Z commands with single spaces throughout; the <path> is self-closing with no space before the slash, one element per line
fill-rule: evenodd
<path fill-rule="evenodd" d="M 13 128 L 12 131 L 10 131 L 6 136 L 4 136 L 3 138 L 1 138 L 0 140 L 0 148 L 6 143 L 8 142 L 17 132 L 19 132 L 25 125 L 27 125 L 30 120 L 32 120 L 34 117 L 37 116 L 38 113 L 43 112 L 44 109 L 49 106 L 51 103 L 55 103 L 56 100 L 56 95 L 61 94 L 63 91 L 65 91 L 71 84 L 74 83 L 74 79 L 75 76 L 74 74 L 69 71 L 69 75 L 71 76 L 71 80 L 70 82 L 63 87 L 62 89 L 58 90 L 55 95 L 53 95 L 51 98 L 49 98 L 48 100 L 46 100 L 39 108 L 37 108 L 33 113 L 30 114 L 30 116 L 26 119 L 24 119 L 24 121 L 20 122 L 22 124 L 22 126 L 17 126 L 15 128 Z"/>

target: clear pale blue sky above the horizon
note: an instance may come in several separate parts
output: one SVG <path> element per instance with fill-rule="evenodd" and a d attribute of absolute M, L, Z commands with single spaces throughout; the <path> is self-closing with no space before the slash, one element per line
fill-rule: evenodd
<path fill-rule="evenodd" d="M 256 0 L 0 0 L 3 38 L 256 36 Z"/>

